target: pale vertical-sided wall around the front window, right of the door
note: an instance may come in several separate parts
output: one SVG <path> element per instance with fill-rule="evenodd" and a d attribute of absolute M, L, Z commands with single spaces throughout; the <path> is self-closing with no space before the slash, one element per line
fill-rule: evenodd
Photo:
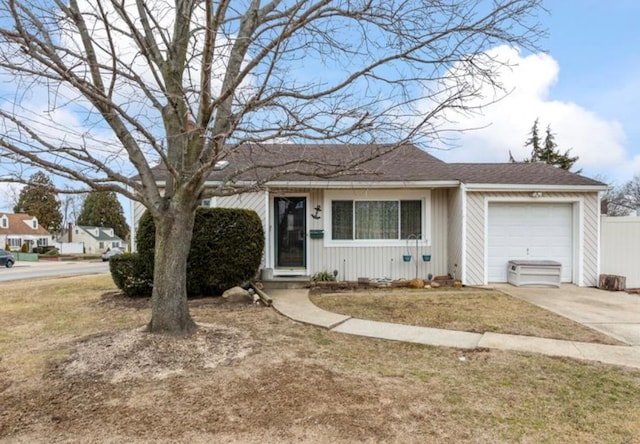
<path fill-rule="evenodd" d="M 401 196 L 404 190 L 396 190 Z M 430 246 L 419 246 L 418 275 L 446 274 L 447 270 L 447 191 L 431 190 L 430 198 Z M 323 190 L 309 191 L 308 208 L 312 211 L 316 205 L 325 208 Z M 325 218 L 328 212 L 320 213 L 320 219 L 310 218 L 309 229 L 325 229 Z M 404 243 L 404 242 L 403 242 Z M 407 246 L 354 246 L 334 247 L 325 244 L 325 239 L 310 239 L 309 273 L 320 271 L 338 271 L 339 280 L 356 280 L 359 277 L 369 278 L 407 278 L 416 274 L 415 244 L 410 242 L 411 262 L 403 262 L 402 255 L 407 253 Z M 423 262 L 422 254 L 431 254 L 431 262 Z"/>

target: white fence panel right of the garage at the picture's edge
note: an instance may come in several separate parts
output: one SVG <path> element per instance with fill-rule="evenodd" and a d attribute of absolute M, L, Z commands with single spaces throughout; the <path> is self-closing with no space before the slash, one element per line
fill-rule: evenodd
<path fill-rule="evenodd" d="M 627 278 L 627 288 L 640 288 L 640 217 L 602 216 L 600 273 Z"/>

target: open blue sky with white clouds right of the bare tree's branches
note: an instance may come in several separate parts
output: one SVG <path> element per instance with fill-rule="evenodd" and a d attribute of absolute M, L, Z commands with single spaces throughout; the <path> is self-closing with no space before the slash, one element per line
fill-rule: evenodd
<path fill-rule="evenodd" d="M 640 174 L 640 1 L 547 0 L 541 17 L 544 52 L 497 48 L 514 66 L 503 72 L 512 91 L 483 115 L 460 120 L 456 147 L 433 154 L 451 162 L 504 162 L 530 155 L 524 143 L 536 118 L 575 169 L 611 185 Z"/>

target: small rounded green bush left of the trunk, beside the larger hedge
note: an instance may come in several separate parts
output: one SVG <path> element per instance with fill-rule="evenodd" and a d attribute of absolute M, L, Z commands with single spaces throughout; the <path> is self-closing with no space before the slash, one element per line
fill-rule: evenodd
<path fill-rule="evenodd" d="M 153 273 L 137 253 L 124 253 L 109 259 L 109 271 L 116 286 L 129 297 L 150 296 Z"/>

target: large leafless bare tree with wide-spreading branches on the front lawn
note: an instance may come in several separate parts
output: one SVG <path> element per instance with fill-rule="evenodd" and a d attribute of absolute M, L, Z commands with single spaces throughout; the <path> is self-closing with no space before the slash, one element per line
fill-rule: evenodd
<path fill-rule="evenodd" d="M 540 3 L 0 0 L 0 75 L 16 85 L 0 107 L 1 164 L 143 203 L 156 225 L 149 328 L 186 333 L 186 259 L 205 195 L 247 191 L 235 179 L 250 169 L 260 187 L 295 171 L 348 173 L 381 153 L 310 165 L 300 150 L 208 190 L 217 162 L 247 144 L 389 150 L 440 137 L 444 111 L 471 111 L 483 86 L 499 87 L 486 50 L 535 45 Z"/>

